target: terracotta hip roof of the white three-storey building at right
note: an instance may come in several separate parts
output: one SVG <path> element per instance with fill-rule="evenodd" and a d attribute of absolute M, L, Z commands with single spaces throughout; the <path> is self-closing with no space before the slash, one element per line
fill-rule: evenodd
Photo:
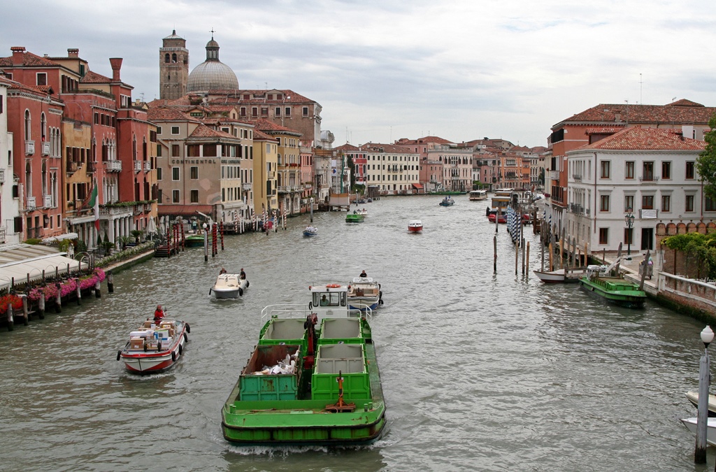
<path fill-rule="evenodd" d="M 594 144 L 584 145 L 576 150 L 671 150 L 702 151 L 706 143 L 684 138 L 681 130 L 669 128 L 628 127 Z M 576 151 L 575 150 L 575 151 Z"/>

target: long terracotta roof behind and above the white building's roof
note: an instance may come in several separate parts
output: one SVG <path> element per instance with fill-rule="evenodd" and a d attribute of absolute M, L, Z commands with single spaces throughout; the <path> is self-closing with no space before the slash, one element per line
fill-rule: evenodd
<path fill-rule="evenodd" d="M 677 105 L 679 103 L 682 105 Z M 705 107 L 689 100 L 669 105 L 600 104 L 558 122 L 552 129 L 556 130 L 566 122 L 706 124 L 715 112 L 715 107 Z"/>

